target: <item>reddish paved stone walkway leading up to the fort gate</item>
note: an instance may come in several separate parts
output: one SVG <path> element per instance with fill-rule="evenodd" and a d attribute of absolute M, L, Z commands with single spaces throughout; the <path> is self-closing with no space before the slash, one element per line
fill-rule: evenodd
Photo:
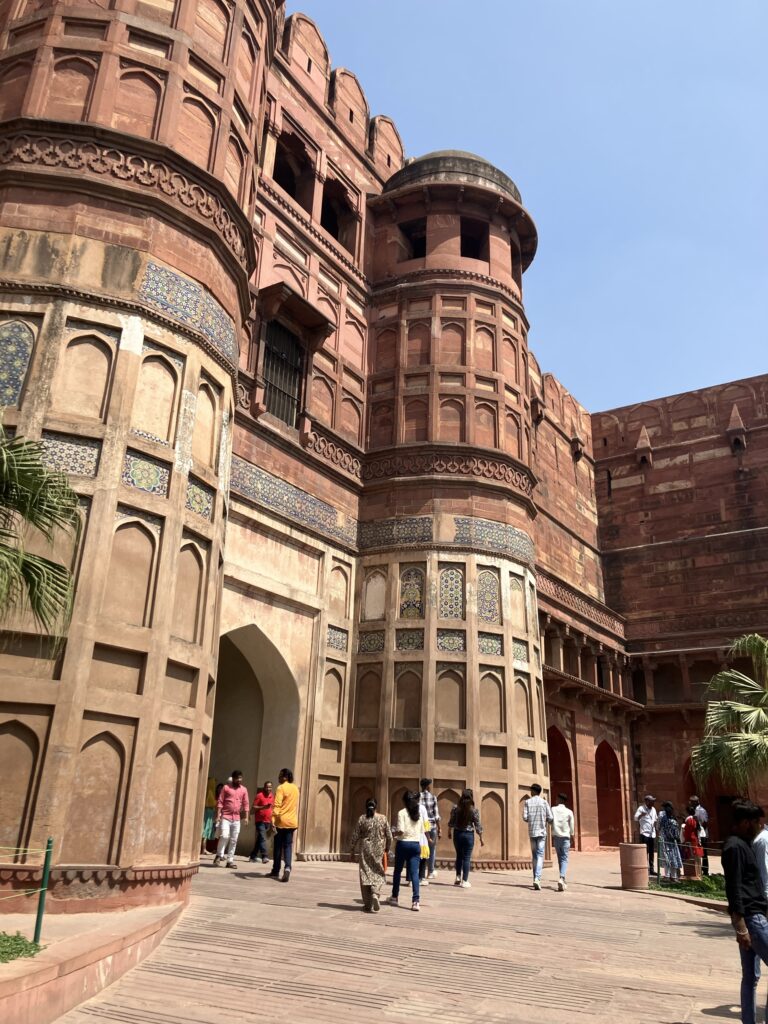
<path fill-rule="evenodd" d="M 422 910 L 360 910 L 352 864 L 203 865 L 163 945 L 59 1024 L 737 1021 L 725 914 L 625 893 L 616 854 L 577 854 L 566 893 L 521 872 L 449 872 Z M 404 895 L 404 900 L 402 899 Z M 762 997 L 762 989 L 761 989 Z"/>

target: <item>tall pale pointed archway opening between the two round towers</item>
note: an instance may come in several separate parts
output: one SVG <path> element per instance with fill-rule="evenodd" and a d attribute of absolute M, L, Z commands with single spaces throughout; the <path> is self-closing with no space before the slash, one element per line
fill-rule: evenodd
<path fill-rule="evenodd" d="M 209 775 L 221 782 L 239 769 L 251 797 L 265 779 L 276 786 L 281 768 L 293 768 L 298 779 L 298 688 L 274 644 L 254 625 L 222 636 Z M 253 840 L 249 819 L 238 852 L 249 852 Z"/>

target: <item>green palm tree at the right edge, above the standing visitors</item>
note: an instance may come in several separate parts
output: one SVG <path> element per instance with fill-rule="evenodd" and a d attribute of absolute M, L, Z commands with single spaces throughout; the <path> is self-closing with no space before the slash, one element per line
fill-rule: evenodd
<path fill-rule="evenodd" d="M 710 680 L 701 742 L 691 751 L 691 773 L 703 787 L 712 778 L 745 794 L 768 772 L 768 639 L 739 637 L 731 657 L 749 657 L 753 676 L 725 669 Z"/>

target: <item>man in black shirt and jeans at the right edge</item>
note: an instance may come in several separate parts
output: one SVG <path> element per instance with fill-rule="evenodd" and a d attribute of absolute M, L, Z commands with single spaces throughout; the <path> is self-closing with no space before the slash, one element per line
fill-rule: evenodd
<path fill-rule="evenodd" d="M 763 808 L 749 800 L 733 802 L 733 835 L 723 846 L 728 912 L 741 954 L 741 1024 L 755 1024 L 755 993 L 760 962 L 768 964 L 768 903 L 752 850 L 762 827 Z"/>

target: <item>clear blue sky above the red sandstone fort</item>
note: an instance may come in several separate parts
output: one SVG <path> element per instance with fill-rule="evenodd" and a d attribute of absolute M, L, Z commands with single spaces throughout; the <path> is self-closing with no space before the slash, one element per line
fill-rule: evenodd
<path fill-rule="evenodd" d="M 539 228 L 530 344 L 591 411 L 768 371 L 768 0 L 289 0 L 408 156 Z"/>

